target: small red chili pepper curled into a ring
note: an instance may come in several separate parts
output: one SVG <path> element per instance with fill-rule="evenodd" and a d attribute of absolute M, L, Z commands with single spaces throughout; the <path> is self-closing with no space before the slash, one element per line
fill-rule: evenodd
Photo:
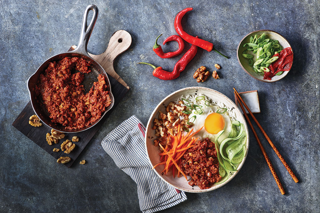
<path fill-rule="evenodd" d="M 161 34 L 162 35 L 162 34 Z M 172 35 L 172 36 L 169 36 L 168 38 L 166 38 L 163 42 L 163 45 L 166 43 L 166 42 L 171 42 L 171 41 L 176 41 L 178 42 L 179 44 L 179 48 L 174 51 L 174 52 L 167 52 L 167 53 L 164 53 L 161 46 L 157 43 L 158 41 L 158 38 L 161 36 L 159 35 L 156 39 L 156 43 L 155 45 L 153 46 L 153 51 L 155 51 L 155 53 L 160 57 L 160 58 L 173 58 L 173 57 L 176 57 L 177 55 L 180 55 L 180 53 L 182 53 L 183 49 L 184 49 L 184 41 L 183 39 L 179 36 L 179 35 Z"/>

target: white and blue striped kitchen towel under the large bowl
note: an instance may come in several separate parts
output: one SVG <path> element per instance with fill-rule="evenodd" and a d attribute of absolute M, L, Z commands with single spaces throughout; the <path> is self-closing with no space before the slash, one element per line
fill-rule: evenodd
<path fill-rule="evenodd" d="M 145 127 L 133 115 L 101 142 L 116 165 L 137 183 L 141 211 L 156 212 L 187 200 L 184 192 L 167 185 L 151 170 L 144 137 Z"/>

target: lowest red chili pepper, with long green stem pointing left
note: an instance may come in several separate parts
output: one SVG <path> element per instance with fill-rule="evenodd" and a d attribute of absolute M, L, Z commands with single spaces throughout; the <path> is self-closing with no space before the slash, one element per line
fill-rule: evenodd
<path fill-rule="evenodd" d="M 139 62 L 138 64 L 147 64 L 153 67 L 152 74 L 162 80 L 173 80 L 179 77 L 180 72 L 184 71 L 188 63 L 195 57 L 198 47 L 196 45 L 191 45 L 190 49 L 181 57 L 181 59 L 176 63 L 172 72 L 168 72 L 162 69 L 161 66 L 156 67 L 155 65 Z"/>

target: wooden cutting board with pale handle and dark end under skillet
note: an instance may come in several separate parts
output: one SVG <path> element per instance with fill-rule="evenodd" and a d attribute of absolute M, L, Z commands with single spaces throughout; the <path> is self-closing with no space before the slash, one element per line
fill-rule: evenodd
<path fill-rule="evenodd" d="M 79 163 L 83 159 L 77 159 L 77 157 L 80 155 L 82 150 L 92 139 L 93 135 L 98 131 L 100 126 L 104 124 L 104 121 L 109 117 L 112 111 L 116 108 L 117 104 L 121 101 L 121 99 L 129 90 L 128 85 L 124 82 L 124 80 L 120 78 L 120 76 L 114 70 L 113 63 L 117 56 L 129 49 L 131 42 L 131 35 L 127 31 L 118 30 L 111 36 L 106 51 L 104 51 L 100 55 L 89 54 L 108 73 L 111 91 L 115 99 L 114 106 L 111 108 L 111 110 L 109 110 L 106 113 L 106 115 L 100 120 L 98 124 L 83 132 L 65 133 L 66 136 L 63 139 L 59 140 L 57 144 L 53 143 L 50 146 L 46 141 L 45 135 L 46 133 L 51 132 L 51 128 L 44 124 L 39 127 L 33 127 L 29 125 L 29 117 L 35 114 L 35 112 L 32 109 L 31 102 L 29 101 L 29 103 L 25 106 L 25 108 L 20 112 L 19 116 L 13 122 L 12 126 L 18 129 L 24 135 L 26 135 L 29 139 L 31 139 L 33 142 L 35 142 L 37 145 L 39 145 L 41 148 L 47 151 L 54 158 L 58 159 L 60 156 L 69 156 L 71 158 L 71 161 L 67 164 L 64 164 L 68 168 L 70 168 L 75 161 L 76 163 Z M 68 51 L 71 51 L 75 48 L 76 46 L 73 45 Z M 76 148 L 70 154 L 65 154 L 61 151 L 60 145 L 63 141 L 67 139 L 71 140 L 72 136 L 78 136 L 80 140 L 78 142 L 74 142 L 76 144 Z M 53 152 L 53 148 L 59 148 L 60 151 Z"/>

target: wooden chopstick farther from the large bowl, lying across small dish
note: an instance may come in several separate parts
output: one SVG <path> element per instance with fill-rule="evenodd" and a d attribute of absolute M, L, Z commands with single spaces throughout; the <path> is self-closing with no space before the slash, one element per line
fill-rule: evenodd
<path fill-rule="evenodd" d="M 235 90 L 235 94 L 236 97 L 238 97 L 238 100 L 240 99 L 240 101 L 244 104 L 245 108 L 248 110 L 248 112 L 250 113 L 251 117 L 253 118 L 253 120 L 256 122 L 256 124 L 258 125 L 259 129 L 261 130 L 261 132 L 263 133 L 263 135 L 266 137 L 267 141 L 269 142 L 270 146 L 273 148 L 273 150 L 276 152 L 276 155 L 280 158 L 282 164 L 284 165 L 284 167 L 287 169 L 287 171 L 289 172 L 289 174 L 291 175 L 292 179 L 294 180 L 294 182 L 298 183 L 299 180 L 298 178 L 295 176 L 295 174 L 293 173 L 293 171 L 291 170 L 291 168 L 289 167 L 289 165 L 287 164 L 287 162 L 285 162 L 284 158 L 281 156 L 280 152 L 278 151 L 278 149 L 276 148 L 276 146 L 272 143 L 271 139 L 269 138 L 269 136 L 267 135 L 267 133 L 264 131 L 264 129 L 262 128 L 262 126 L 259 124 L 257 118 L 254 117 L 254 115 L 252 114 L 251 110 L 249 109 L 249 107 L 247 106 L 247 104 L 244 102 L 244 100 L 241 98 L 241 96 L 239 95 L 238 91 L 233 88 Z M 240 101 L 238 101 L 240 103 Z M 247 114 L 245 111 L 243 111 L 244 114 Z"/>

